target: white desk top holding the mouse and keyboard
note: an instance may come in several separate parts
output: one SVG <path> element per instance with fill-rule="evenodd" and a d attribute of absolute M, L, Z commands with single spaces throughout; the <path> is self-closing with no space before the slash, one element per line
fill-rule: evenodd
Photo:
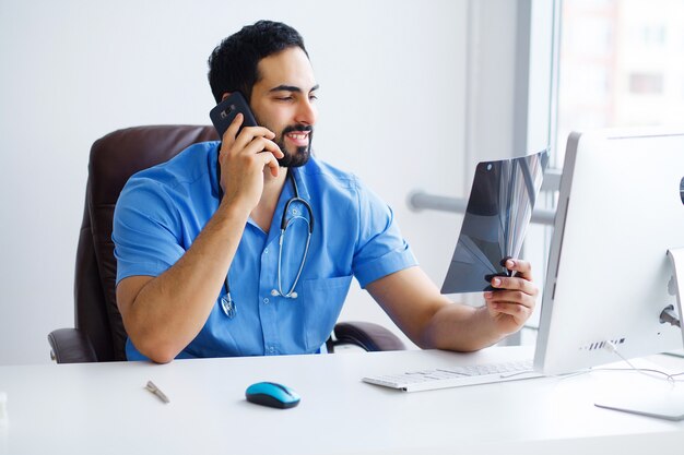
<path fill-rule="evenodd" d="M 529 348 L 508 347 L 471 355 L 402 351 L 165 366 L 0 367 L 9 414 L 9 426 L 0 428 L 0 454 L 684 451 L 684 422 L 595 408 L 592 392 L 600 373 L 411 394 L 361 382 L 366 374 L 531 355 Z M 144 390 L 149 380 L 170 404 Z M 293 387 L 303 397 L 299 406 L 279 410 L 247 403 L 247 385 L 264 380 Z"/>

